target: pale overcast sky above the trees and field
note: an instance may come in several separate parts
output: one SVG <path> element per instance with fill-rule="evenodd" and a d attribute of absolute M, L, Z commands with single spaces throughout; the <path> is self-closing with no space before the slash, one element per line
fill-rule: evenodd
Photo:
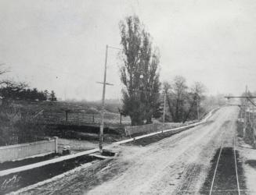
<path fill-rule="evenodd" d="M 106 44 L 136 14 L 160 50 L 160 80 L 185 76 L 208 94 L 256 90 L 253 0 L 0 0 L 0 63 L 9 78 L 58 97 L 99 100 Z M 109 52 L 106 97 L 120 97 L 117 50 Z"/>

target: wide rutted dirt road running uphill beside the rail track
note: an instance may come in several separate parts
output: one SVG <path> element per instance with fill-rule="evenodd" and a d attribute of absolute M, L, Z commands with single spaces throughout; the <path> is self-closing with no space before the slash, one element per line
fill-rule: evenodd
<path fill-rule="evenodd" d="M 204 125 L 146 147 L 118 146 L 112 161 L 97 161 L 23 193 L 209 194 L 205 181 L 211 159 L 222 144 L 233 146 L 238 111 L 221 108 Z"/>

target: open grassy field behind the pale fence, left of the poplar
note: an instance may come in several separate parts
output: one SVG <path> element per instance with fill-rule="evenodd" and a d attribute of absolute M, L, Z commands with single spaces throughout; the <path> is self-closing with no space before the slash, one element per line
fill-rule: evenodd
<path fill-rule="evenodd" d="M 22 144 L 47 137 L 99 140 L 99 104 L 65 101 L 11 101 L 0 112 L 0 145 Z M 106 108 L 115 111 L 117 105 Z M 104 132 L 109 142 L 122 137 L 128 117 L 106 110 Z M 117 109 L 118 110 L 118 109 Z M 66 112 L 68 111 L 68 112 Z M 66 115 L 67 113 L 67 115 Z M 66 117 L 67 116 L 67 117 Z"/>

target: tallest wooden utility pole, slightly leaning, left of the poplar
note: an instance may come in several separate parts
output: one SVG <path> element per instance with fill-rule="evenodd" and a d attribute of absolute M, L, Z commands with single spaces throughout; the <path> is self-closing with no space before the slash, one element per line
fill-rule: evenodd
<path fill-rule="evenodd" d="M 105 67 L 104 67 L 104 80 L 103 80 L 103 99 L 101 108 L 101 122 L 99 129 L 99 152 L 103 153 L 103 129 L 104 129 L 104 113 L 105 113 L 105 94 L 106 94 L 106 62 L 107 62 L 107 44 L 106 44 L 106 56 L 105 56 Z"/>

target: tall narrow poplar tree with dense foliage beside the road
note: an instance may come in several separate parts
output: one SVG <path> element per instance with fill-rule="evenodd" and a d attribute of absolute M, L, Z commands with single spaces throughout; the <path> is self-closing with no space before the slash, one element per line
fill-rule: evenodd
<path fill-rule="evenodd" d="M 138 16 L 121 21 L 120 31 L 123 113 L 130 116 L 132 126 L 151 123 L 160 113 L 159 54 Z"/>

